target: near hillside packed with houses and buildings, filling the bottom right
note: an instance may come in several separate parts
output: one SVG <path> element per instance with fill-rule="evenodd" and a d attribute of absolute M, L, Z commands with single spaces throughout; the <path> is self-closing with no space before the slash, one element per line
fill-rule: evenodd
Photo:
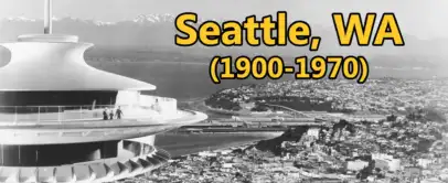
<path fill-rule="evenodd" d="M 444 123 L 388 118 L 308 127 L 278 144 L 280 154 L 256 144 L 172 160 L 147 182 L 447 182 L 448 133 Z"/>

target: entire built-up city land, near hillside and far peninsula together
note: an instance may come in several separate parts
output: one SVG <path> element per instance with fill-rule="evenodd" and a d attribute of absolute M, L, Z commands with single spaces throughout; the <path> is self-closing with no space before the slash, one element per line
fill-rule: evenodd
<path fill-rule="evenodd" d="M 337 120 L 303 127 L 307 132 L 296 139 L 273 140 L 271 143 L 278 143 L 276 151 L 262 151 L 257 149 L 260 143 L 257 143 L 190 154 L 136 180 L 448 182 L 448 126 L 445 117 L 448 114 L 448 84 L 445 80 L 384 78 L 364 85 L 346 80 L 295 80 L 225 89 L 213 97 L 246 104 L 245 107 L 260 96 L 323 99 L 331 101 L 334 108 L 383 114 L 384 118 L 356 118 L 353 115 L 348 118 L 342 115 Z M 435 110 L 428 111 L 428 108 Z M 359 115 L 365 117 L 364 112 Z"/>

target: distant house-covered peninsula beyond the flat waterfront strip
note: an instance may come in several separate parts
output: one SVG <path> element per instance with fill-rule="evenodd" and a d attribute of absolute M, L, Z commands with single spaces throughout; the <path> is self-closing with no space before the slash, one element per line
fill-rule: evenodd
<path fill-rule="evenodd" d="M 412 79 L 370 79 L 365 84 L 350 80 L 288 80 L 246 85 L 222 90 L 214 101 L 250 103 L 271 96 L 306 97 L 316 103 L 331 103 L 334 110 L 373 114 L 406 112 L 423 106 L 448 112 L 448 82 Z"/>

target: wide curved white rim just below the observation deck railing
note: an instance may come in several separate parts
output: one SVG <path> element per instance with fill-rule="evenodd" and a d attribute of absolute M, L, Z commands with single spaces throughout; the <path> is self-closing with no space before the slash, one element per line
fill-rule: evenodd
<path fill-rule="evenodd" d="M 185 111 L 179 118 L 153 120 L 146 118 L 121 120 L 81 120 L 35 122 L 0 127 L 1 144 L 64 144 L 134 139 L 166 132 L 181 126 L 205 120 L 204 114 Z"/>

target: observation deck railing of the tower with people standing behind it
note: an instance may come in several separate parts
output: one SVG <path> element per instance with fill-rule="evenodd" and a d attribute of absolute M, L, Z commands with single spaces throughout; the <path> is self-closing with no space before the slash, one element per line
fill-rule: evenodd
<path fill-rule="evenodd" d="M 160 112 L 158 106 L 142 105 L 96 105 L 96 106 L 0 106 L 0 125 L 43 123 L 43 122 L 75 122 L 104 120 L 105 109 L 110 120 L 117 120 L 116 111 L 120 107 L 124 115 L 121 119 L 153 119 L 166 120 L 192 115 L 189 111 L 175 110 L 174 112 Z"/>

